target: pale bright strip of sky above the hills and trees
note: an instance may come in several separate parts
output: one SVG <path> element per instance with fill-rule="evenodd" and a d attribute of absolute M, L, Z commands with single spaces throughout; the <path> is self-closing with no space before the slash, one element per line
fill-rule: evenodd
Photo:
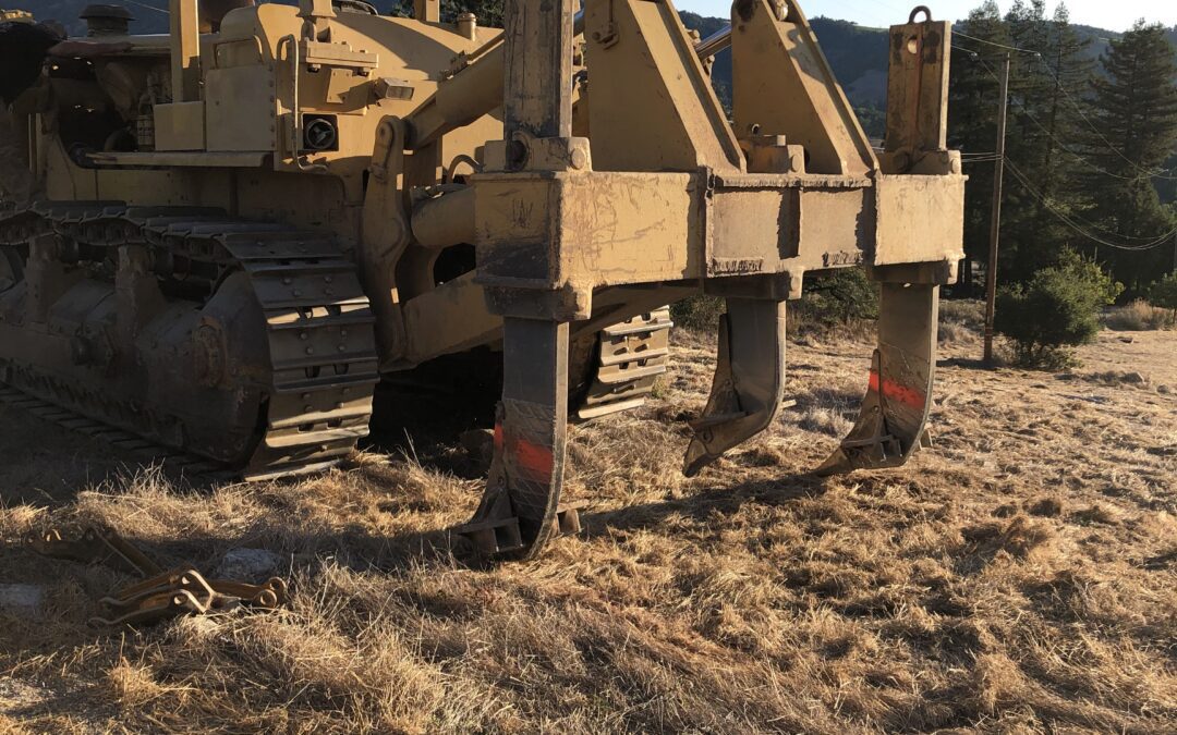
<path fill-rule="evenodd" d="M 932 8 L 936 20 L 963 20 L 969 11 L 979 6 L 982 0 L 798 0 L 807 18 L 825 15 L 851 20 L 862 26 L 885 27 L 906 22 L 907 14 L 917 5 Z M 1004 13 L 1013 5 L 1013 0 L 997 0 Z M 1058 2 L 1046 0 L 1046 15 L 1055 12 Z M 699 15 L 727 18 L 731 15 L 731 0 L 676 0 L 674 7 L 691 11 Z M 1126 31 L 1137 18 L 1149 22 L 1161 22 L 1177 26 L 1177 0 L 1070 0 L 1066 8 L 1071 13 L 1071 22 L 1096 26 L 1109 31 Z"/>

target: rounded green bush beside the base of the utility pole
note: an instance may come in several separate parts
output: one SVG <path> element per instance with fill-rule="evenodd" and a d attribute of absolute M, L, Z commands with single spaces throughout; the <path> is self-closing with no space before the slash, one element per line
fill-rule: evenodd
<path fill-rule="evenodd" d="M 1016 363 L 1065 367 L 1075 362 L 1071 347 L 1095 340 L 1099 309 L 1123 290 L 1098 263 L 1068 253 L 1026 283 L 1002 289 L 993 328 L 1013 343 Z"/>

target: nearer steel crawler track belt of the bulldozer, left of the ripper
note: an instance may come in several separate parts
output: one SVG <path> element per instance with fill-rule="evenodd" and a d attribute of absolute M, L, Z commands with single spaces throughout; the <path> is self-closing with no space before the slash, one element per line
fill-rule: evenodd
<path fill-rule="evenodd" d="M 71 267 L 89 263 L 95 270 L 121 246 L 142 246 L 158 272 L 171 278 L 181 263 L 189 287 L 207 282 L 208 299 L 244 273 L 264 320 L 264 334 L 255 336 L 266 342 L 268 374 L 251 377 L 264 394 L 264 416 L 248 461 L 233 466 L 212 447 L 188 446 L 187 432 L 173 433 L 181 441 L 161 436 L 151 416 L 174 421 L 168 406 L 120 405 L 27 361 L 16 367 L 0 356 L 0 382 L 8 383 L 0 399 L 141 455 L 251 481 L 335 465 L 367 434 L 379 382 L 373 316 L 354 263 L 331 235 L 217 209 L 114 202 L 47 203 L 0 216 L 0 245 L 9 260 L 27 263 L 29 242 L 41 235 L 67 241 Z M 193 339 L 207 342 L 206 372 L 228 373 L 234 355 L 212 327 L 207 336 L 195 334 L 202 329 L 194 329 Z"/>

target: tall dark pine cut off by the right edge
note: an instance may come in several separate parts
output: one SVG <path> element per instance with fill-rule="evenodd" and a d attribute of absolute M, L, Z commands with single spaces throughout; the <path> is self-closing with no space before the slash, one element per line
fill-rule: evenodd
<path fill-rule="evenodd" d="M 1137 21 L 1099 59 L 1104 75 L 1092 81 L 1084 140 L 1093 166 L 1085 176 L 1085 219 L 1110 242 L 1143 246 L 1175 227 L 1153 179 L 1177 149 L 1177 54 L 1165 28 Z M 1102 252 L 1106 253 L 1106 248 Z M 1171 267 L 1172 249 L 1112 249 L 1104 256 L 1117 278 L 1143 288 Z"/>

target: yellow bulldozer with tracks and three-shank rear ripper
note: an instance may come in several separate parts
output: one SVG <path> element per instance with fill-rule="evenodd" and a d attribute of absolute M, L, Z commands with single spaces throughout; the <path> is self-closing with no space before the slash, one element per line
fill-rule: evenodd
<path fill-rule="evenodd" d="M 669 0 L 580 5 L 507 0 L 498 29 L 438 0 L 301 0 L 208 33 L 171 0 L 167 35 L 98 13 L 129 48 L 54 60 L 13 105 L 45 196 L 0 209 L 6 390 L 264 479 L 351 453 L 383 377 L 490 350 L 493 462 L 458 530 L 530 556 L 578 524 L 567 422 L 639 406 L 666 370 L 666 305 L 726 300 L 693 474 L 777 416 L 805 276 L 865 267 L 878 347 L 819 470 L 903 465 L 962 258 L 950 25 L 917 8 L 890 29 L 876 149 L 793 0 L 736 0 L 707 39 Z"/>

